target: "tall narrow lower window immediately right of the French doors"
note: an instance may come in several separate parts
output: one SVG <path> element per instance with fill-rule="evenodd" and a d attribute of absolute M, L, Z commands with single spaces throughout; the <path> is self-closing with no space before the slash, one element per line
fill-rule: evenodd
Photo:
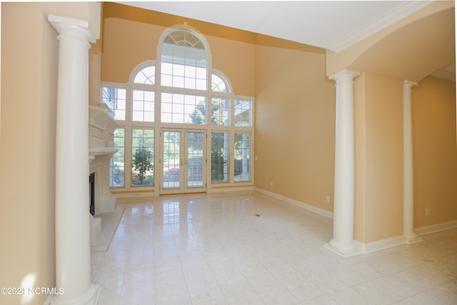
<path fill-rule="evenodd" d="M 229 182 L 229 132 L 211 133 L 211 183 Z"/>

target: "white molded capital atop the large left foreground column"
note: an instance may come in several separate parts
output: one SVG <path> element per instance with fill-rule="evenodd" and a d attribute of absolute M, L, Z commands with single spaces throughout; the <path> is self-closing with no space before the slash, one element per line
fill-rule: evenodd
<path fill-rule="evenodd" d="M 54 26 L 57 34 L 61 35 L 73 35 L 77 39 L 82 39 L 85 42 L 95 43 L 95 36 L 92 34 L 89 28 L 89 21 L 72 19 L 62 16 L 49 15 L 49 23 Z"/>

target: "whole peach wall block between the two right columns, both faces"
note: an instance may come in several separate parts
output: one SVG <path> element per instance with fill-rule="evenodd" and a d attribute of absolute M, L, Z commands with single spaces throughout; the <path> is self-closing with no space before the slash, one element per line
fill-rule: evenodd
<path fill-rule="evenodd" d="M 355 239 L 403 234 L 403 82 L 364 73 L 356 80 Z"/>

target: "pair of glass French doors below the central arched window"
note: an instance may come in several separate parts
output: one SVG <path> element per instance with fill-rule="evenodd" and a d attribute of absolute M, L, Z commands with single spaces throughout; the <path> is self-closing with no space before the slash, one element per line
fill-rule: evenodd
<path fill-rule="evenodd" d="M 160 194 L 206 191 L 206 131 L 161 129 Z"/>

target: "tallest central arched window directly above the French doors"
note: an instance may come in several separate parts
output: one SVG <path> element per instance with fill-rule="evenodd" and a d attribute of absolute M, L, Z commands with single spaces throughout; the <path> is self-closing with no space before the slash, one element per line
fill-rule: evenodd
<path fill-rule="evenodd" d="M 186 27 L 169 29 L 164 35 L 161 42 L 161 122 L 206 124 L 208 49 L 205 40 Z"/>

